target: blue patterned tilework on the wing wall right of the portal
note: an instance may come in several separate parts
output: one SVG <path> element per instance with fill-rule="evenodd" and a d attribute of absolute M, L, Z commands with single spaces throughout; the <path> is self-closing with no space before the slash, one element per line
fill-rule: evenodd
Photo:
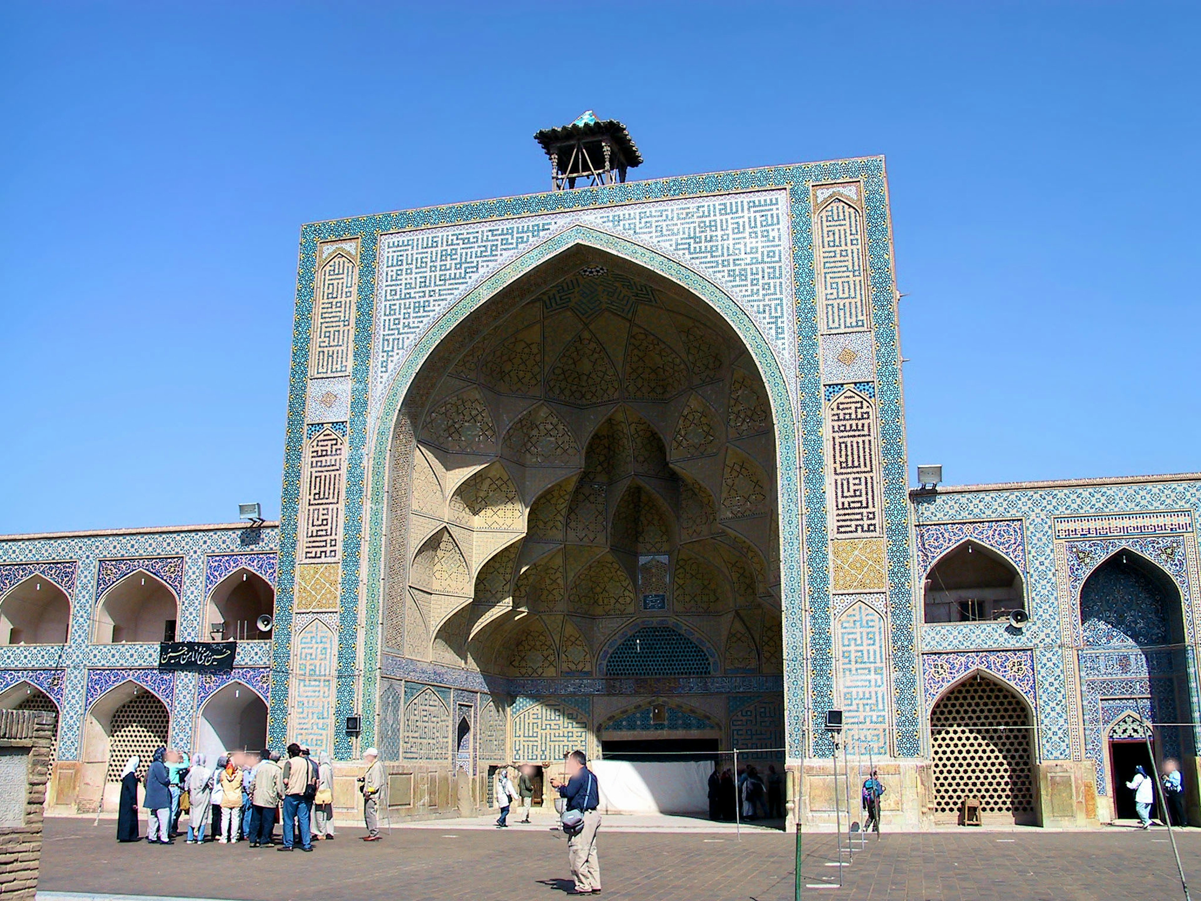
<path fill-rule="evenodd" d="M 1018 531 L 1012 525 L 1021 523 L 1030 613 L 1030 622 L 1021 632 L 998 623 L 926 626 L 921 632 L 925 656 L 949 660 L 955 656 L 928 654 L 936 649 L 962 655 L 994 650 L 1033 654 L 1040 758 L 1088 757 L 1101 778 L 1105 769 L 1101 700 L 1113 698 L 1115 693 L 1127 698 L 1141 693 L 1149 699 L 1151 691 L 1145 670 L 1140 675 L 1139 667 L 1129 658 L 1123 661 L 1121 655 L 1085 649 L 1081 589 L 1098 566 L 1123 549 L 1145 557 L 1176 583 L 1189 643 L 1188 694 L 1195 708 L 1193 661 L 1199 611 L 1193 597 L 1199 585 L 1195 531 L 1199 506 L 1201 483 L 1187 477 L 1123 479 L 1110 484 L 1003 485 L 994 490 L 916 496 L 915 529 L 922 536 L 925 551 L 919 542 L 915 557 L 922 573 L 939 553 L 963 537 L 990 544 L 1021 568 Z M 927 698 L 932 687 L 937 688 L 926 686 Z M 1165 702 L 1163 710 L 1166 709 Z M 1163 721 L 1163 714 L 1158 715 Z"/>

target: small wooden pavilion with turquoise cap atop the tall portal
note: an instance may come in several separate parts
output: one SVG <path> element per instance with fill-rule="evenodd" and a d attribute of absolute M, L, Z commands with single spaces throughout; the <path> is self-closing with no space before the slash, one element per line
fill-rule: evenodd
<path fill-rule="evenodd" d="M 550 157 L 550 180 L 555 191 L 626 180 L 626 171 L 643 163 L 643 155 L 626 126 L 616 119 L 597 119 L 586 111 L 570 125 L 543 129 L 533 136 Z"/>

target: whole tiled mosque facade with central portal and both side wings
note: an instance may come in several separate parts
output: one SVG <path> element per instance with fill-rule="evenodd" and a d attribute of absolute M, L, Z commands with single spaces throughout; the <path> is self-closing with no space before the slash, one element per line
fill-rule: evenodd
<path fill-rule="evenodd" d="M 1149 735 L 1201 818 L 1201 477 L 913 489 L 883 159 L 555 185 L 303 227 L 277 524 L 0 539 L 52 805 L 297 740 L 396 818 L 737 750 L 808 824 L 847 760 L 886 824 L 1087 825 Z"/>

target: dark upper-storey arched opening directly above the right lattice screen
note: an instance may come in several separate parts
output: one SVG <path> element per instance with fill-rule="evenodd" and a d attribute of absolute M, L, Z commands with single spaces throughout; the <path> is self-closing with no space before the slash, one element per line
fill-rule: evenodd
<path fill-rule="evenodd" d="M 926 622 L 991 622 L 1026 609 L 1022 574 L 1003 554 L 964 541 L 926 575 Z"/>

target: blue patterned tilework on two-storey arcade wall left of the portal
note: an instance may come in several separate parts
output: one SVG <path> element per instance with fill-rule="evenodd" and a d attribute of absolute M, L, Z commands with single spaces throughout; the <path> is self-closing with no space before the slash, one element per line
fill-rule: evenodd
<path fill-rule="evenodd" d="M 124 577 L 144 569 L 162 579 L 179 598 L 179 638 L 198 640 L 209 561 L 250 555 L 256 559 L 255 572 L 267 578 L 276 541 L 274 526 L 244 525 L 0 541 L 0 597 L 24 580 L 23 573 L 40 572 L 71 598 L 65 645 L 0 646 L 0 690 L 25 680 L 55 700 L 61 716 L 60 760 L 79 758 L 88 710 L 100 694 L 125 680 L 163 699 L 172 710 L 172 744 L 189 745 L 196 715 L 196 675 L 159 673 L 156 644 L 92 644 L 97 598 Z M 265 673 L 268 643 L 240 644 L 234 662 L 235 667 L 258 667 Z"/>

